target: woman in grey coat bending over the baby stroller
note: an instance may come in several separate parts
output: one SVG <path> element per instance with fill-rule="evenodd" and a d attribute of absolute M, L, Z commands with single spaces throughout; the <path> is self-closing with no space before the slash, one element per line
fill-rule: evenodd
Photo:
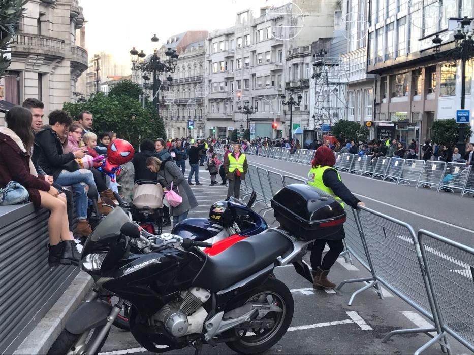
<path fill-rule="evenodd" d="M 171 183 L 173 183 L 173 191 L 181 196 L 182 202 L 176 207 L 170 207 L 173 225 L 176 226 L 178 222 L 187 218 L 190 209 L 198 206 L 191 186 L 187 183 L 181 169 L 171 159 L 162 161 L 156 157 L 150 157 L 146 161 L 146 167 L 158 174 L 158 182 L 163 186 L 163 191 L 171 190 Z"/>

